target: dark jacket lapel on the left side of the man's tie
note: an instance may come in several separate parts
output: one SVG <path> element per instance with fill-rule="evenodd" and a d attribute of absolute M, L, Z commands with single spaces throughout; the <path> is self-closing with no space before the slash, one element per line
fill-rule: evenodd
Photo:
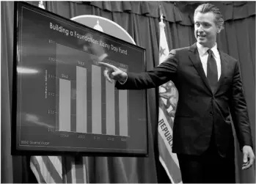
<path fill-rule="evenodd" d="M 191 45 L 189 51 L 190 51 L 189 58 L 191 59 L 191 62 L 193 63 L 193 65 L 196 68 L 196 70 L 199 73 L 199 75 L 201 76 L 202 81 L 204 82 L 205 86 L 209 89 L 209 91 L 211 93 L 213 93 L 211 91 L 211 87 L 210 87 L 210 85 L 208 83 L 208 79 L 205 76 L 205 71 L 202 68 L 202 62 L 200 60 L 200 56 L 199 56 L 199 53 L 197 51 L 197 44 L 194 43 L 194 45 Z"/>

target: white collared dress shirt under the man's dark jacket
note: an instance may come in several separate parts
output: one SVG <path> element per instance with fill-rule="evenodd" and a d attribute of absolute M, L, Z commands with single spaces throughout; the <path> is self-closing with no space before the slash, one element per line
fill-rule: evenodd
<path fill-rule="evenodd" d="M 208 49 L 207 47 L 204 47 L 200 43 L 197 43 L 197 50 L 200 55 L 200 60 L 202 62 L 202 68 L 205 71 L 205 76 L 207 77 L 207 59 L 208 59 Z M 213 51 L 213 57 L 216 60 L 217 65 L 217 71 L 218 71 L 218 81 L 222 73 L 222 67 L 221 67 L 221 58 L 219 56 L 219 51 L 217 49 L 217 43 L 211 48 L 211 51 Z"/>

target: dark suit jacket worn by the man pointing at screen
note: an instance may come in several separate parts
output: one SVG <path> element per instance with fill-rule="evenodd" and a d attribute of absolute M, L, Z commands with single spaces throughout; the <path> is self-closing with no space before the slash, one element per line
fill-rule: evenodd
<path fill-rule="evenodd" d="M 117 89 L 155 88 L 172 80 L 179 92 L 173 127 L 172 151 L 201 155 L 207 150 L 214 127 L 216 147 L 225 156 L 233 147 L 230 113 L 240 147 L 252 146 L 249 118 L 238 61 L 219 51 L 222 73 L 214 92 L 208 84 L 197 45 L 170 51 L 158 67 L 145 73 L 128 73 Z"/>

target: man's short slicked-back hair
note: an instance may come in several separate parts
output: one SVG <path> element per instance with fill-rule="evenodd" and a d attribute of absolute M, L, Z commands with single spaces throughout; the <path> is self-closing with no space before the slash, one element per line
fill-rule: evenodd
<path fill-rule="evenodd" d="M 196 10 L 194 10 L 194 16 L 197 14 L 197 12 L 206 13 L 206 12 L 213 12 L 216 18 L 216 24 L 221 27 L 221 30 L 224 29 L 224 19 L 222 16 L 221 11 L 218 7 L 216 7 L 213 4 L 205 3 L 200 4 Z"/>

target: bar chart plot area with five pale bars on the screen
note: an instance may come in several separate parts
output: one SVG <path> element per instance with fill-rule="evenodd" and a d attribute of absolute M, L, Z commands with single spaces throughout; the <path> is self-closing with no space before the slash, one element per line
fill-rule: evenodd
<path fill-rule="evenodd" d="M 56 130 L 129 136 L 128 91 L 106 81 L 97 58 L 56 44 Z M 127 65 L 106 62 L 128 71 Z"/>

